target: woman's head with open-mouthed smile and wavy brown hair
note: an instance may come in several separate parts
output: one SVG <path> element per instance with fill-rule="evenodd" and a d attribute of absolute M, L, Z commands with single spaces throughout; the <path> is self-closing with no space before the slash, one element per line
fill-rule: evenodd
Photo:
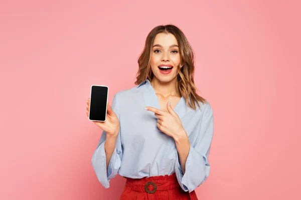
<path fill-rule="evenodd" d="M 195 109 L 196 105 L 199 106 L 199 102 L 206 102 L 197 94 L 194 84 L 193 49 L 183 31 L 177 26 L 161 25 L 150 31 L 138 64 L 136 84 L 145 79 L 152 81 L 154 77 L 161 82 L 172 81 L 189 107 Z M 169 68 L 163 69 L 161 66 Z"/>

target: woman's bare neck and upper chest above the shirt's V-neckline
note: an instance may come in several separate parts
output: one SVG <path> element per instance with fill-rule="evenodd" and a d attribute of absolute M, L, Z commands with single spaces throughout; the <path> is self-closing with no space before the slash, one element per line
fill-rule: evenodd
<path fill-rule="evenodd" d="M 158 78 L 154 77 L 152 82 L 153 88 L 156 93 L 159 93 L 163 96 L 181 96 L 179 87 L 178 87 L 178 80 L 177 76 L 169 81 L 169 82 L 162 82 Z"/>

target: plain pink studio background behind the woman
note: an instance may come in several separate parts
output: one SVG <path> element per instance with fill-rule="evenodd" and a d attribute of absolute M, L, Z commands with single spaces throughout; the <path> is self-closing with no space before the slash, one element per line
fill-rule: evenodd
<path fill-rule="evenodd" d="M 300 199 L 300 3 L 1 0 L 0 199 L 118 199 L 91 156 L 91 84 L 134 86 L 147 33 L 173 23 L 214 109 L 199 199 Z"/>

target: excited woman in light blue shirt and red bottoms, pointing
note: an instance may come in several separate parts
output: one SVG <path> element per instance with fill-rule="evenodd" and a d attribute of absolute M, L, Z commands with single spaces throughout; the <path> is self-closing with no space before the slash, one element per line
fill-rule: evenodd
<path fill-rule="evenodd" d="M 213 112 L 196 93 L 194 54 L 174 25 L 149 32 L 138 59 L 137 86 L 117 92 L 92 156 L 105 187 L 126 178 L 120 199 L 197 199 L 208 177 Z M 89 110 L 87 100 L 87 115 Z"/>

